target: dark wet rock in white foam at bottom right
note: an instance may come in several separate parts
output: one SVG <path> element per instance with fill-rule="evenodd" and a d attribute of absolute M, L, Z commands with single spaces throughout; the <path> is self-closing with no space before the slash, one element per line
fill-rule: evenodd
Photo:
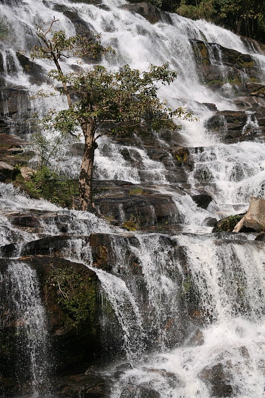
<path fill-rule="evenodd" d="M 204 368 L 199 378 L 211 389 L 212 397 L 232 397 L 231 375 L 221 363 Z"/>

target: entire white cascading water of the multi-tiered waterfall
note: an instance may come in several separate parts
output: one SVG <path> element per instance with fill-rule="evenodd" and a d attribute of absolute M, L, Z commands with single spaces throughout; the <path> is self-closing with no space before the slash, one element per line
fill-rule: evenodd
<path fill-rule="evenodd" d="M 150 143 L 147 145 L 138 138 L 132 146 L 102 138 L 95 153 L 96 179 L 142 184 L 150 192 L 156 190 L 170 196 L 176 206 L 170 219 L 181 224 L 182 234 L 176 234 L 175 230 L 163 234 L 127 234 L 92 214 L 28 199 L 11 185 L 0 184 L 0 246 L 5 248 L 0 251 L 1 257 L 11 244 L 15 246 L 12 256 L 16 258 L 23 253 L 26 243 L 39 237 L 63 235 L 64 229 L 72 236 L 62 255 L 78 259 L 95 270 L 102 295 L 120 325 L 125 361 L 130 362 L 118 376 L 113 366 L 107 369 L 106 373 L 114 375 L 111 398 L 263 398 L 264 242 L 254 242 L 253 234 L 211 235 L 211 228 L 204 220 L 246 211 L 250 196 L 265 196 L 265 144 L 258 139 L 255 142 L 255 134 L 261 128 L 255 107 L 246 112 L 241 130 L 243 138 L 254 134 L 252 141 L 228 145 L 220 142 L 207 126 L 207 120 L 216 112 L 209 104 L 215 104 L 219 111 L 236 111 L 245 101 L 241 97 L 238 101 L 233 99 L 230 69 L 223 63 L 221 46 L 250 54 L 261 81 L 265 79 L 264 55 L 250 42 L 205 21 L 167 14 L 167 18 L 151 24 L 139 14 L 120 7 L 125 4 L 122 0 L 105 0 L 100 7 L 67 0 L 0 3 L 0 23 L 5 32 L 0 47 L 4 89 L 10 85 L 13 89 L 23 86 L 25 92 L 32 94 L 38 89 L 48 90 L 40 71 L 41 68 L 47 71 L 52 65 L 47 66 L 44 61 L 34 64 L 40 68 L 36 69 L 40 80 L 35 79 L 32 84 L 21 68 L 18 51 L 25 50 L 27 54 L 36 41 L 35 25 L 49 23 L 54 17 L 59 19 L 58 27 L 69 35 L 75 34 L 73 15 L 76 15 L 83 26 L 102 33 L 103 45 L 115 47 L 117 56 L 102 61 L 105 66 L 116 69 L 128 63 L 132 68 L 146 70 L 150 63 L 170 61 L 179 76 L 173 85 L 162 88 L 161 97 L 173 108 L 182 105 L 192 109 L 200 118 L 192 123 L 179 121 L 182 130 L 171 139 L 167 140 L 163 134 L 152 137 L 163 149 L 178 145 L 189 148 L 193 169 L 185 182 L 172 183 L 175 180 L 171 175 L 174 168 L 171 153 L 171 166 L 167 170 L 161 160 L 165 153 L 149 157 Z M 193 52 L 199 41 L 206 43 L 210 66 L 217 67 L 223 80 L 227 80 L 222 90 L 214 92 L 210 85 L 201 83 L 201 71 Z M 27 62 L 30 69 L 32 64 Z M 71 69 L 69 62 L 63 66 Z M 248 83 L 244 68 L 237 78 Z M 7 118 L 9 132 L 21 137 L 23 131 L 19 120 L 13 119 L 6 93 L 6 90 L 1 93 L 1 114 Z M 253 103 L 261 106 L 264 100 L 255 97 Z M 43 115 L 50 107 L 62 108 L 65 102 L 61 97 L 25 102 L 22 96 L 18 106 L 19 118 L 28 118 L 30 110 Z M 28 124 L 26 141 L 33 127 Z M 224 114 L 218 115 L 216 127 L 221 137 L 229 132 Z M 80 167 L 79 143 L 75 145 L 69 149 L 64 142 L 67 148 L 64 156 L 54 160 L 54 165 L 70 177 L 77 177 Z M 191 199 L 201 189 L 212 198 L 206 209 Z M 38 221 L 38 232 L 21 231 L 12 225 L 10 214 L 32 209 L 41 215 L 46 210 L 49 212 Z M 151 210 L 154 212 L 154 207 Z M 62 220 L 67 217 L 67 221 L 60 217 Z M 119 220 L 125 220 L 121 203 Z M 92 254 L 85 239 L 91 233 L 112 236 L 111 272 L 92 266 Z M 15 259 L 11 260 L 8 275 L 12 287 L 10 301 L 19 318 L 17 327 L 24 325 L 26 330 L 29 377 L 32 393 L 37 395 L 47 382 L 45 313 L 38 282 L 34 272 L 26 264 L 18 265 Z M 1 283 L 2 278 L 1 272 Z"/>

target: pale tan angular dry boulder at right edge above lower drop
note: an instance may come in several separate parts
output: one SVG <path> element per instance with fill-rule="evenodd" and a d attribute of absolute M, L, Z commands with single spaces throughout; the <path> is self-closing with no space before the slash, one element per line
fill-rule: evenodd
<path fill-rule="evenodd" d="M 249 209 L 244 217 L 236 224 L 233 232 L 239 232 L 243 226 L 255 231 L 265 230 L 265 199 L 250 198 Z"/>

